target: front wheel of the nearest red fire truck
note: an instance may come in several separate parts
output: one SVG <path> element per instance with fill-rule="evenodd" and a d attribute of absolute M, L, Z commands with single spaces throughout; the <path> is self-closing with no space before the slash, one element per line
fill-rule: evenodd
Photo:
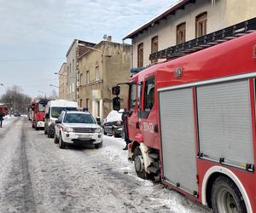
<path fill-rule="evenodd" d="M 144 160 L 143 160 L 143 155 L 140 147 L 135 148 L 133 153 L 133 159 L 134 159 L 134 167 L 135 167 L 137 176 L 143 179 L 148 179 L 147 173 L 145 172 Z"/>

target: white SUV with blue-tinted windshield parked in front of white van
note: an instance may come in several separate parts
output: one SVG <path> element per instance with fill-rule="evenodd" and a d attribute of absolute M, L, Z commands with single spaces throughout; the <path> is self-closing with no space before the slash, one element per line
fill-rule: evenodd
<path fill-rule="evenodd" d="M 90 112 L 63 111 L 55 122 L 55 143 L 65 148 L 67 144 L 102 147 L 102 127 Z"/>

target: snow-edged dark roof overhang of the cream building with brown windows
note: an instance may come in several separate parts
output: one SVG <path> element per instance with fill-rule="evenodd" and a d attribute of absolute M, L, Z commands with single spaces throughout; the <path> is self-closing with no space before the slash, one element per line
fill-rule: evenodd
<path fill-rule="evenodd" d="M 170 14 L 175 14 L 175 12 L 178 9 L 184 9 L 185 5 L 188 3 L 195 3 L 195 0 L 180 0 L 177 3 L 172 4 L 172 6 L 168 9 L 166 9 L 164 12 L 161 14 L 158 14 L 155 16 L 153 19 L 148 20 L 143 26 L 139 26 L 136 30 L 128 33 L 123 40 L 127 38 L 133 38 L 136 37 L 139 33 L 143 32 L 146 30 L 148 27 L 154 26 L 155 24 L 158 24 L 160 20 L 165 20 L 166 17 Z"/>

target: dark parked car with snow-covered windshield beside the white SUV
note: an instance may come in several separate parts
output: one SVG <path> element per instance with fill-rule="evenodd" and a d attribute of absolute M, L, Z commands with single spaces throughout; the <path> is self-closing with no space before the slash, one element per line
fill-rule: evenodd
<path fill-rule="evenodd" d="M 114 137 L 118 137 L 122 135 L 123 130 L 123 121 L 122 121 L 122 112 L 124 110 L 111 111 L 108 113 L 107 118 L 104 120 L 103 131 L 104 135 L 110 134 Z"/>

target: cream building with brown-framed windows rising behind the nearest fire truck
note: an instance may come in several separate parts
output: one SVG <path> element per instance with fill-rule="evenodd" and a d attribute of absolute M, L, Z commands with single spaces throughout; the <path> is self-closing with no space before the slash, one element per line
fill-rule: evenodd
<path fill-rule="evenodd" d="M 148 66 L 151 53 L 255 17 L 253 0 L 181 0 L 130 32 L 132 67 Z"/>

